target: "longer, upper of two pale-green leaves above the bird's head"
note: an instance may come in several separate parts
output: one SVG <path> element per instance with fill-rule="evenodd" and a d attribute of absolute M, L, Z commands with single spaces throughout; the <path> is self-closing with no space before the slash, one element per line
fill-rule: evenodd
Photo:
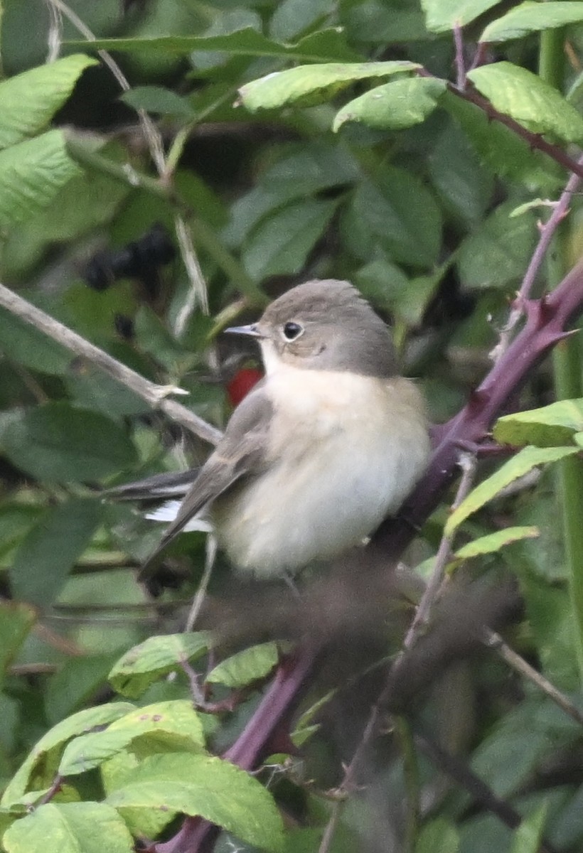
<path fill-rule="evenodd" d="M 302 106 L 329 101 L 356 80 L 392 77 L 414 71 L 415 62 L 329 62 L 326 65 L 300 65 L 288 71 L 276 71 L 252 80 L 239 90 L 243 106 L 251 113 L 288 104 Z"/>

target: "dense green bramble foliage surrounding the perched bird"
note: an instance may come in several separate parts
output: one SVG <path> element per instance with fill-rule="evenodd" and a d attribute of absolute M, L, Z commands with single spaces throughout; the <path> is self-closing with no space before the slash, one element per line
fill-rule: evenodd
<path fill-rule="evenodd" d="M 7 0 L 0 24 L 0 848 L 580 850 L 583 3 Z M 448 427 L 390 601 L 300 582 L 306 624 L 347 620 L 315 666 L 294 595 L 220 554 L 209 580 L 202 531 L 150 595 L 160 527 L 102 491 L 203 460 L 257 376 L 222 329 L 327 277 Z"/>

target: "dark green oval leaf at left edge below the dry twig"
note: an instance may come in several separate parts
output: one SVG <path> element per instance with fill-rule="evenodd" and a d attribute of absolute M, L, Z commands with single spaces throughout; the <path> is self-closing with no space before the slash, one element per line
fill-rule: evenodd
<path fill-rule="evenodd" d="M 133 444 L 114 421 L 67 403 L 10 413 L 0 428 L 0 446 L 16 467 L 56 482 L 100 479 L 137 462 Z"/>

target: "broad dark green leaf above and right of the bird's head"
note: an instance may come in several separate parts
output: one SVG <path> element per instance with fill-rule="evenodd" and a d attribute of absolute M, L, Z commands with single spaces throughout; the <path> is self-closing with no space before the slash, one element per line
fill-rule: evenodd
<path fill-rule="evenodd" d="M 376 180 L 359 184 L 342 231 L 347 247 L 365 261 L 382 247 L 395 263 L 432 267 L 440 251 L 440 208 L 420 178 L 387 166 Z"/>

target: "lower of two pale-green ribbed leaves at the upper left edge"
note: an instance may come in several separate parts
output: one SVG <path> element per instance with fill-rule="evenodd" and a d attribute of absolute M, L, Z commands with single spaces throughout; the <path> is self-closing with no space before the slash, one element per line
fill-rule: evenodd
<path fill-rule="evenodd" d="M 0 151 L 0 228 L 33 216 L 80 174 L 67 154 L 62 131 L 48 131 Z"/>

